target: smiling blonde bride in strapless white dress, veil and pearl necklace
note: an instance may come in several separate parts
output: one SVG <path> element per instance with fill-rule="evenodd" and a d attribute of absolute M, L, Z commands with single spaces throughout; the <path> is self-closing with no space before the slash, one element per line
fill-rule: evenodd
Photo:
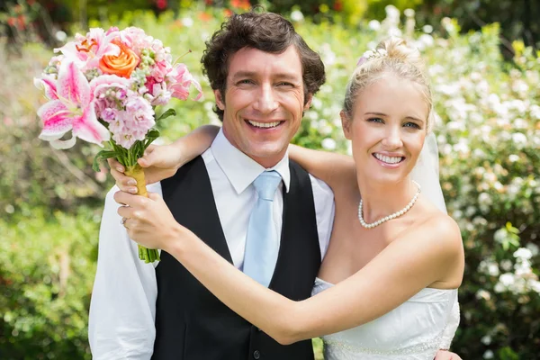
<path fill-rule="evenodd" d="M 335 194 L 332 238 L 310 299 L 294 302 L 238 271 L 178 224 L 155 193 L 148 202 L 115 194 L 128 205 L 118 213 L 130 238 L 174 256 L 221 302 L 281 344 L 322 337 L 327 360 L 433 359 L 454 336 L 449 322 L 458 317 L 464 248 L 438 185 L 422 69 L 418 50 L 404 40 L 383 41 L 360 59 L 340 113 L 354 160 L 289 148 Z M 196 134 L 209 146 L 215 130 Z M 171 157 L 182 141 L 161 154 Z M 176 151 L 169 167 L 199 155 L 189 152 Z M 113 175 L 127 190 L 129 178 Z"/>

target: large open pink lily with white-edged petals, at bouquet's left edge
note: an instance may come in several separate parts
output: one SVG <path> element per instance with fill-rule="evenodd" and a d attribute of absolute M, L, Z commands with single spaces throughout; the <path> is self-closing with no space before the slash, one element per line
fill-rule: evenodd
<path fill-rule="evenodd" d="M 74 62 L 64 62 L 57 82 L 57 99 L 43 104 L 38 116 L 43 121 L 40 139 L 50 141 L 54 148 L 71 148 L 76 138 L 100 146 L 111 134 L 95 116 L 94 95 L 88 80 Z M 69 130 L 72 139 L 60 140 Z"/>

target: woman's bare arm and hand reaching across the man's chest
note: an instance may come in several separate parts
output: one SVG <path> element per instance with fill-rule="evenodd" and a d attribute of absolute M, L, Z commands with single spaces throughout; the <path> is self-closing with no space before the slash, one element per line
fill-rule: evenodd
<path fill-rule="evenodd" d="M 459 228 L 437 215 L 410 235 L 392 241 L 369 264 L 345 281 L 302 302 L 258 284 L 178 224 L 163 199 L 116 193 L 129 205 L 118 213 L 128 219 L 130 238 L 163 248 L 230 309 L 282 344 L 351 329 L 406 302 L 421 289 L 463 269 Z M 434 237 L 434 234 L 437 234 Z M 455 288 L 461 276 L 446 287 Z"/>

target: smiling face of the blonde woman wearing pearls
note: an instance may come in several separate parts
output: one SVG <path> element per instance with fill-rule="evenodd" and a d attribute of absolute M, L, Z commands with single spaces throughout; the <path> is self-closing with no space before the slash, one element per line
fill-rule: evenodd
<path fill-rule="evenodd" d="M 420 85 L 383 76 L 356 96 L 352 119 L 342 112 L 352 140 L 358 174 L 377 184 L 397 184 L 415 166 L 428 120 L 428 102 Z"/>

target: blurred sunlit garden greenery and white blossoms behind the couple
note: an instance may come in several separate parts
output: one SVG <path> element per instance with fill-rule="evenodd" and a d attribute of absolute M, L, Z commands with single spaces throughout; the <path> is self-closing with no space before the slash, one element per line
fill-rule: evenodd
<path fill-rule="evenodd" d="M 327 84 L 294 142 L 347 152 L 338 112 L 347 76 L 366 49 L 404 36 L 429 64 L 439 115 L 441 184 L 466 251 L 464 359 L 535 359 L 540 348 L 540 4 L 534 0 L 19 0 L 0 4 L 0 358 L 89 359 L 106 171 L 96 147 L 68 151 L 37 139 L 34 88 L 60 46 L 88 26 L 135 25 L 163 40 L 203 85 L 200 102 L 174 103 L 163 142 L 218 123 L 202 76 L 204 40 L 253 4 L 290 18 L 320 52 Z M 536 20 L 536 22 L 535 22 Z M 320 356 L 320 341 L 315 341 Z"/>

